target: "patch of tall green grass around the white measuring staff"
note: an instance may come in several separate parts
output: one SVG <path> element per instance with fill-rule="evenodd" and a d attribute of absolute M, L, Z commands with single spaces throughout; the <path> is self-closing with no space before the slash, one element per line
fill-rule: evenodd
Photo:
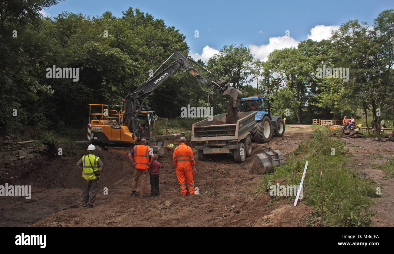
<path fill-rule="evenodd" d="M 286 164 L 264 176 L 258 190 L 268 190 L 269 186 L 279 181 L 283 185 L 299 185 L 305 162 L 309 161 L 303 186 L 305 204 L 316 207 L 316 215 L 321 216 L 319 170 L 322 170 L 325 223 L 331 226 L 369 226 L 373 215 L 370 212 L 370 198 L 379 195 L 373 181 L 361 177 L 346 165 L 348 158 L 345 155 L 344 142 L 340 138 L 329 137 L 327 131 L 317 128 L 311 139 L 305 139 L 290 154 Z"/>

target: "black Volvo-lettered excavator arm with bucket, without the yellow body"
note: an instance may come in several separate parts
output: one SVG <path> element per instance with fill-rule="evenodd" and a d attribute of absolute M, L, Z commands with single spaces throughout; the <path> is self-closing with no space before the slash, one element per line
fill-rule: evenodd
<path fill-rule="evenodd" d="M 160 71 L 173 56 L 176 57 L 176 60 L 171 62 L 167 68 Z M 238 98 L 240 97 L 240 94 L 242 95 L 241 91 L 234 88 L 229 88 L 229 83 L 224 80 L 218 80 L 217 77 L 210 71 L 208 71 L 208 73 L 210 73 L 211 77 L 207 79 L 197 68 L 195 68 L 193 64 L 199 66 L 205 71 L 208 71 L 208 69 L 197 63 L 191 57 L 181 52 L 174 51 L 174 53 L 169 58 L 167 58 L 167 60 L 165 60 L 165 62 L 163 62 L 162 65 L 136 89 L 136 91 L 134 91 L 134 93 L 126 95 L 125 99 L 123 100 L 126 103 L 124 122 L 129 130 L 133 129 L 133 133 L 138 133 L 136 119 L 138 119 L 138 115 L 141 112 L 141 107 L 145 101 L 145 98 L 151 94 L 152 91 L 158 88 L 158 86 L 160 86 L 165 80 L 171 77 L 171 75 L 175 74 L 179 70 L 189 72 L 191 75 L 193 75 L 199 81 L 200 88 L 203 91 L 205 90 L 201 83 L 208 87 L 208 91 L 221 91 L 222 94 L 230 95 L 234 101 L 234 108 L 239 106 L 240 99 Z M 141 97 L 143 100 L 137 109 L 136 99 Z"/>

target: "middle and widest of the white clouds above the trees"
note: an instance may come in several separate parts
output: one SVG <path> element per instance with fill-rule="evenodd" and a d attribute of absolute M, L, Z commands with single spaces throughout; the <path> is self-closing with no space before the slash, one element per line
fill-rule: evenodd
<path fill-rule="evenodd" d="M 297 48 L 298 42 L 294 40 L 292 37 L 287 36 L 279 36 L 279 37 L 271 37 L 269 38 L 268 44 L 263 45 L 249 45 L 251 49 L 251 53 L 256 55 L 257 58 L 260 58 L 262 61 L 268 60 L 268 55 L 275 49 L 284 49 L 284 48 Z"/>

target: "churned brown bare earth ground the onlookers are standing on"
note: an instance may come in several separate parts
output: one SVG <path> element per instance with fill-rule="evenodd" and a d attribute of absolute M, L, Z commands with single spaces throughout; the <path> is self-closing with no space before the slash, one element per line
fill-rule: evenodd
<path fill-rule="evenodd" d="M 288 153 L 310 136 L 312 129 L 294 126 L 284 137 L 268 144 L 253 143 L 253 153 L 271 146 Z M 312 208 L 280 201 L 264 208 L 271 197 L 255 195 L 261 176 L 248 173 L 253 157 L 242 164 L 222 156 L 197 161 L 194 181 L 199 195 L 182 197 L 172 158 L 163 156 L 160 196 L 150 197 L 149 177 L 145 199 L 130 196 L 133 170 L 116 152 L 99 152 L 104 163 L 94 208 L 81 207 L 82 178 L 76 167 L 80 155 L 46 162 L 29 177 L 13 184 L 31 184 L 32 199 L 0 198 L 1 226 L 297 226 Z M 139 193 L 139 186 L 137 193 Z M 103 188 L 108 188 L 108 195 Z M 284 216 L 286 214 L 286 216 Z"/>

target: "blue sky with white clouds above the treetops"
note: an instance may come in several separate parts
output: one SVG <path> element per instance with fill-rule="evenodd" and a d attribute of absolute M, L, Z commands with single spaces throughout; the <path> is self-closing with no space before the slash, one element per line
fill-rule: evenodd
<path fill-rule="evenodd" d="M 381 1 L 178 1 L 178 0 L 66 0 L 45 9 L 57 16 L 62 11 L 100 16 L 112 11 L 116 17 L 128 7 L 139 8 L 186 35 L 193 58 L 208 60 L 225 44 L 244 44 L 256 57 L 266 60 L 273 49 L 296 47 L 301 40 L 329 37 L 349 19 L 373 23 L 383 10 L 393 9 L 392 0 Z M 311 31 L 312 29 L 312 31 Z M 195 37 L 198 30 L 199 37 Z M 287 30 L 287 33 L 286 33 Z M 287 36 L 286 36 L 287 35 Z"/>

